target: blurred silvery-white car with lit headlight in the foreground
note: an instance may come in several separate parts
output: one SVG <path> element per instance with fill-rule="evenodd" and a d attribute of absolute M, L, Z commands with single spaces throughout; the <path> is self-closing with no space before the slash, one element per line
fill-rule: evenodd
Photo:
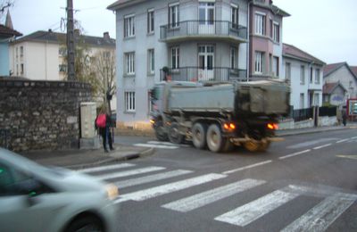
<path fill-rule="evenodd" d="M 0 148 L 0 231 L 117 231 L 118 188 Z"/>

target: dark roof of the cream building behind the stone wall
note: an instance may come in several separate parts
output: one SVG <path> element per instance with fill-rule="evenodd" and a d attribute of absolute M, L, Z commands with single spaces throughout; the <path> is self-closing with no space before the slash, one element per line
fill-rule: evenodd
<path fill-rule="evenodd" d="M 82 36 L 81 38 L 83 38 L 84 43 L 92 46 L 115 46 L 115 39 L 113 38 L 90 36 Z M 12 43 L 20 43 L 25 41 L 60 43 L 66 41 L 66 34 L 54 32 L 52 30 L 37 30 L 36 32 L 29 34 L 28 36 L 16 39 Z"/>

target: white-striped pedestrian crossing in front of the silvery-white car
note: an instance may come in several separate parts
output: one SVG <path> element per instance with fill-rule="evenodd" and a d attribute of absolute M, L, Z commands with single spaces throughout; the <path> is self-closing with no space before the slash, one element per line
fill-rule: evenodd
<path fill-rule="evenodd" d="M 226 183 L 227 181 L 223 180 L 228 178 L 228 173 L 202 174 L 195 173 L 194 170 L 169 170 L 169 168 L 160 166 L 139 166 L 133 163 L 120 163 L 79 170 L 79 172 L 108 180 L 118 186 L 120 192 L 124 194 L 120 195 L 115 203 L 141 202 L 182 191 L 184 197 L 172 199 L 169 203 L 160 205 L 162 209 L 179 213 L 199 211 L 213 203 L 225 201 L 229 197 L 249 195 L 248 191 L 269 185 L 265 180 L 253 178 Z M 173 178 L 174 180 L 170 181 Z M 161 183 L 162 181 L 164 184 Z M 213 182 L 215 187 L 212 188 L 212 185 L 208 184 Z M 133 186 L 135 190 L 125 191 Z M 195 186 L 203 186 L 206 189 L 200 193 L 191 194 L 192 192 L 188 189 Z M 124 191 L 122 191 L 123 189 Z M 289 208 L 290 204 L 299 196 L 316 198 L 317 193 L 320 193 L 320 202 L 312 206 L 311 209 L 306 209 L 303 215 L 289 221 L 287 226 L 282 225 L 281 231 L 325 231 L 357 200 L 357 195 L 340 191 L 331 192 L 313 186 L 287 185 L 273 189 L 272 192 L 260 195 L 256 199 L 250 199 L 248 203 L 237 202 L 237 205 L 233 205 L 232 208 L 220 215 L 215 215 L 211 220 L 245 228 L 253 225 L 255 221 L 275 213 L 278 208 L 288 207 L 287 209 L 292 210 Z"/>

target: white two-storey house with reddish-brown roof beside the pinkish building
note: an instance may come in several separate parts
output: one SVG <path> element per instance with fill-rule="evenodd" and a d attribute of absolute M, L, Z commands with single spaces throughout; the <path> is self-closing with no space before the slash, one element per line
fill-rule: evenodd
<path fill-rule="evenodd" d="M 283 70 L 280 77 L 290 83 L 290 104 L 294 110 L 322 106 L 325 62 L 296 46 L 283 44 Z"/>

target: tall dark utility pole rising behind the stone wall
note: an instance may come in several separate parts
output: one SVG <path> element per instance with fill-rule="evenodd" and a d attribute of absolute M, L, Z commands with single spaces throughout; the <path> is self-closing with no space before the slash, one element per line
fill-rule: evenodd
<path fill-rule="evenodd" d="M 68 80 L 75 81 L 76 75 L 74 70 L 74 19 L 73 19 L 73 0 L 67 0 L 67 67 Z"/>

